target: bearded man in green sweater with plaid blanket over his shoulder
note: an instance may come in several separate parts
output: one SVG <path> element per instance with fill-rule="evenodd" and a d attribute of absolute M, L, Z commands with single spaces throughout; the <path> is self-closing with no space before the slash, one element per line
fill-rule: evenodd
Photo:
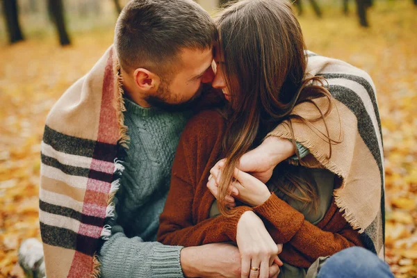
<path fill-rule="evenodd" d="M 190 101 L 213 79 L 216 33 L 191 0 L 132 0 L 114 47 L 52 108 L 40 186 L 49 277 L 240 277 L 232 245 L 155 242 Z"/>

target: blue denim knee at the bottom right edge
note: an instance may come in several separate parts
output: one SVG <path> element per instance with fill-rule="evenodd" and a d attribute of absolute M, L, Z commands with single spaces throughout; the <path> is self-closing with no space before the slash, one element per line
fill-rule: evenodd
<path fill-rule="evenodd" d="M 362 247 L 350 247 L 330 256 L 317 278 L 393 278 L 389 265 Z"/>

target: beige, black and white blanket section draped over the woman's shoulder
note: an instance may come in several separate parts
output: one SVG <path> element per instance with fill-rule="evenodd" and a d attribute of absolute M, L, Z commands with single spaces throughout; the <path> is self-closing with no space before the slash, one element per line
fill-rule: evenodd
<path fill-rule="evenodd" d="M 295 140 L 310 151 L 304 159 L 307 167 L 325 167 L 341 178 L 341 186 L 334 190 L 336 205 L 359 230 L 366 247 L 384 259 L 384 156 L 375 85 L 357 67 L 311 51 L 307 55 L 306 72 L 327 80 L 333 109 L 326 118 L 327 129 L 322 120 L 308 125 L 291 120 Z M 327 111 L 325 97 L 313 101 Z M 292 114 L 317 119 L 316 106 L 302 103 Z M 332 140 L 342 141 L 332 143 L 331 155 L 329 141 L 323 136 L 327 131 Z M 293 139 L 290 123 L 284 121 L 269 136 Z"/>

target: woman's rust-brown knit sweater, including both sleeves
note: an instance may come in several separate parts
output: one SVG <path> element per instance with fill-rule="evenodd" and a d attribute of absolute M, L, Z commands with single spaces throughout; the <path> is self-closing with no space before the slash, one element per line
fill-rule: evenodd
<path fill-rule="evenodd" d="M 172 165 L 167 202 L 160 218 L 158 241 L 185 247 L 236 242 L 240 216 L 252 210 L 264 221 L 276 243 L 284 243 L 279 257 L 297 267 L 309 268 L 319 256 L 330 256 L 354 245 L 362 246 L 359 234 L 345 221 L 332 202 L 317 226 L 273 194 L 260 206 L 238 206 L 234 217 L 209 218 L 215 197 L 206 188 L 213 165 L 222 157 L 224 120 L 215 111 L 193 117 L 181 136 Z"/>

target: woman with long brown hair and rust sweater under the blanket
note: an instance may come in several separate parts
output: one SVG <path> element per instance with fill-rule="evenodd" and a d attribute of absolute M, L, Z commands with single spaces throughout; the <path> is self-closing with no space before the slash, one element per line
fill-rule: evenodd
<path fill-rule="evenodd" d="M 224 10 L 217 23 L 213 87 L 223 90 L 228 104 L 200 113 L 183 131 L 158 240 L 183 246 L 231 240 L 243 254 L 243 274 L 259 277 L 268 277 L 273 263 L 281 265 L 275 243 L 284 244 L 280 277 L 311 275 L 320 257 L 347 247 L 383 250 L 380 153 L 378 158 L 361 152 L 368 146 L 361 114 L 352 121 L 352 111 L 327 90 L 332 83 L 325 87 L 318 76 L 353 67 L 318 59 L 316 67 L 307 68 L 300 25 L 284 1 L 240 1 Z M 377 115 L 369 122 L 377 122 Z M 279 163 L 271 179 L 260 180 L 237 168 L 265 136 L 301 145 L 295 148 L 296 159 Z M 227 159 L 216 164 L 220 158 Z M 363 159 L 369 162 L 366 169 Z M 211 183 L 219 183 L 218 202 L 206 188 L 210 175 Z M 240 206 L 232 208 L 231 195 Z"/>

